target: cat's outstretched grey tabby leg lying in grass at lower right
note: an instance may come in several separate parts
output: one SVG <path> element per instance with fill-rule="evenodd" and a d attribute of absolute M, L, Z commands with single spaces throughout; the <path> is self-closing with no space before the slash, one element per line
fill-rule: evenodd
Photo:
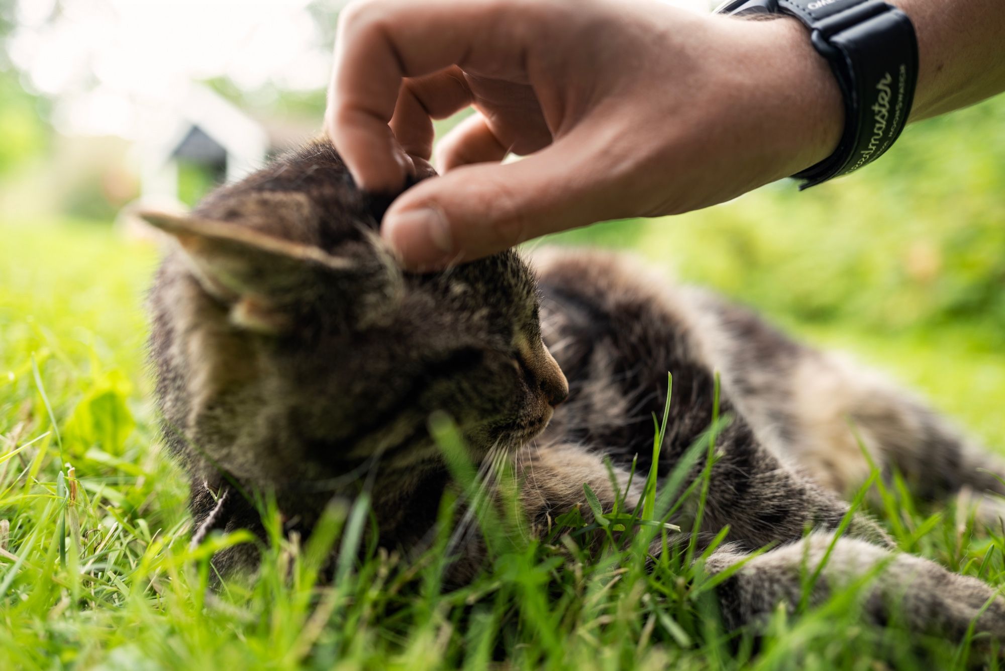
<path fill-rule="evenodd" d="M 899 625 L 955 642 L 963 641 L 973 624 L 975 634 L 1005 639 L 1005 599 L 985 583 L 850 537 L 839 538 L 827 556 L 832 540 L 831 533 L 818 531 L 749 560 L 716 589 L 725 625 L 757 629 L 779 604 L 790 612 L 804 601 L 818 606 L 857 586 L 862 615 L 872 624 Z M 746 558 L 744 552 L 723 548 L 709 557 L 706 570 L 718 574 Z M 809 585 L 806 577 L 821 562 L 826 564 Z M 989 642 L 988 637 L 980 640 Z"/>

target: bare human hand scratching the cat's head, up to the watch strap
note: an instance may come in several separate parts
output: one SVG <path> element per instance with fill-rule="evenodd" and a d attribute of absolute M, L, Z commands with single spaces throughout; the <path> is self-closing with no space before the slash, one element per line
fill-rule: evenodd
<path fill-rule="evenodd" d="M 357 183 L 444 173 L 382 235 L 434 269 L 606 219 L 729 200 L 826 158 L 842 105 L 790 19 L 640 0 L 366 0 L 340 18 L 326 131 Z M 527 158 L 500 164 L 509 153 Z"/>

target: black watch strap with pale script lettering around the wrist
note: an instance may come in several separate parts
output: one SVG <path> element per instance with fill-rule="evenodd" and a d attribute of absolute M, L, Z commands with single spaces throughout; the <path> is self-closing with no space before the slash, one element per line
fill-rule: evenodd
<path fill-rule="evenodd" d="M 908 15 L 881 0 L 730 0 L 717 13 L 789 14 L 810 29 L 844 97 L 837 149 L 796 173 L 800 189 L 878 159 L 900 135 L 918 81 L 918 40 Z"/>

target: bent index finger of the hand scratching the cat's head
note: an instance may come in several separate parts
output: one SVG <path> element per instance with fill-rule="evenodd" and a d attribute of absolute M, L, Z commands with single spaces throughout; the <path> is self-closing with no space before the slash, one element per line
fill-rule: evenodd
<path fill-rule="evenodd" d="M 511 30 L 512 15 L 506 3 L 490 0 L 370 0 L 343 11 L 325 130 L 359 185 L 392 191 L 404 180 L 388 127 L 404 77 L 462 61 L 497 71 L 522 67 L 524 45 Z M 414 109 L 403 114 L 414 119 Z M 424 146 L 418 136 L 409 142 Z"/>

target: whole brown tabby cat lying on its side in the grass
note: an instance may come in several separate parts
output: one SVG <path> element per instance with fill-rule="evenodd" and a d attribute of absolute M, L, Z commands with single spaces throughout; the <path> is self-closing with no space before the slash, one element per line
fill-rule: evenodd
<path fill-rule="evenodd" d="M 848 511 L 841 495 L 869 473 L 849 419 L 871 458 L 920 497 L 1005 491 L 981 470 L 1005 467 L 910 395 L 631 257 L 543 250 L 532 267 L 511 250 L 404 272 L 378 235 L 389 201 L 357 190 L 321 140 L 191 215 L 144 215 L 177 241 L 151 290 L 150 352 L 164 441 L 191 481 L 193 541 L 238 528 L 264 539 L 251 492 L 272 492 L 285 530 L 309 534 L 333 497 L 367 487 L 380 544 L 428 546 L 454 486 L 428 428 L 436 411 L 456 422 L 474 463 L 512 455 L 531 533 L 574 508 L 591 519 L 584 483 L 605 510 L 619 495 L 631 508 L 642 478 L 629 471 L 651 465 L 667 372 L 660 477 L 712 424 L 717 371 L 719 410 L 732 417 L 694 529 L 708 538 L 730 526 L 706 570 L 773 544 L 717 588 L 730 627 L 799 602 L 800 568 L 822 558 Z M 693 517 L 682 509 L 671 521 L 686 528 Z M 887 563 L 867 619 L 885 622 L 899 595 L 920 632 L 962 639 L 974 621 L 1005 636 L 1005 601 L 987 585 L 891 548 L 854 515 L 812 598 Z M 469 580 L 482 539 L 466 534 L 453 549 L 450 580 Z M 244 543 L 213 562 L 226 576 L 253 571 L 257 554 Z"/>

